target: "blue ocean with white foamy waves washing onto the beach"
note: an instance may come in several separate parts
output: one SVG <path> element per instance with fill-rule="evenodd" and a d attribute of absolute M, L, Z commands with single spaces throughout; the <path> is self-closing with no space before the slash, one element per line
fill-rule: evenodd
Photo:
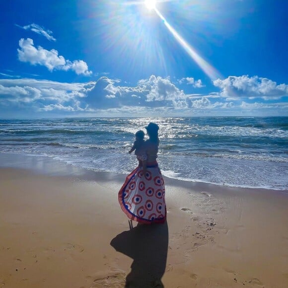
<path fill-rule="evenodd" d="M 128 174 L 137 165 L 128 153 L 134 134 L 149 122 L 160 127 L 167 177 L 288 190 L 288 117 L 2 119 L 0 151 Z"/>

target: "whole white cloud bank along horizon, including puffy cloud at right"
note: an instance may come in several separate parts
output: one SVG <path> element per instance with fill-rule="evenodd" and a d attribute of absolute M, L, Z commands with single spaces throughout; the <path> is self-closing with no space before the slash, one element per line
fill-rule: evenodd
<path fill-rule="evenodd" d="M 187 80 L 187 78 L 185 78 Z M 287 114 L 287 102 L 275 102 L 288 96 L 288 85 L 260 78 L 229 76 L 217 79 L 219 91 L 186 94 L 169 77 L 151 75 L 135 86 L 106 76 L 86 83 L 62 83 L 36 79 L 0 79 L 1 110 L 34 112 L 100 113 L 105 115 L 146 116 L 225 114 L 269 109 Z M 261 98 L 267 103 L 251 102 Z M 271 111 L 272 111 L 271 110 Z"/>

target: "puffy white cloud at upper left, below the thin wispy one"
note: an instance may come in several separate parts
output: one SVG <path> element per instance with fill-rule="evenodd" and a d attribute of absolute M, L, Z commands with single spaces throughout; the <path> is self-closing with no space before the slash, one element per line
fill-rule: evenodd
<path fill-rule="evenodd" d="M 41 46 L 35 47 L 33 40 L 30 38 L 20 39 L 20 49 L 18 51 L 18 59 L 21 62 L 28 62 L 32 65 L 45 66 L 49 71 L 53 70 L 72 70 L 76 74 L 90 75 L 92 72 L 88 70 L 87 64 L 82 60 L 73 62 L 65 60 L 63 56 L 58 55 L 55 49 L 46 50 Z"/>

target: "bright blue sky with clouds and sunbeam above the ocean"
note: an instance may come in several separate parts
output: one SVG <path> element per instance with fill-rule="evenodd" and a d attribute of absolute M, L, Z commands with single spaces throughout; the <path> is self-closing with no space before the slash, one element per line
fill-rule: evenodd
<path fill-rule="evenodd" d="M 288 115 L 286 0 L 2 0 L 0 117 Z"/>

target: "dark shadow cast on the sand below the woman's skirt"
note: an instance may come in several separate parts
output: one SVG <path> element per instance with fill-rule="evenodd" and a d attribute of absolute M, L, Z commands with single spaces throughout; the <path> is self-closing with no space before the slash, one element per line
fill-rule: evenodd
<path fill-rule="evenodd" d="M 126 288 L 164 288 L 168 250 L 168 225 L 138 225 L 118 234 L 111 246 L 132 259 L 131 272 L 126 277 Z"/>

